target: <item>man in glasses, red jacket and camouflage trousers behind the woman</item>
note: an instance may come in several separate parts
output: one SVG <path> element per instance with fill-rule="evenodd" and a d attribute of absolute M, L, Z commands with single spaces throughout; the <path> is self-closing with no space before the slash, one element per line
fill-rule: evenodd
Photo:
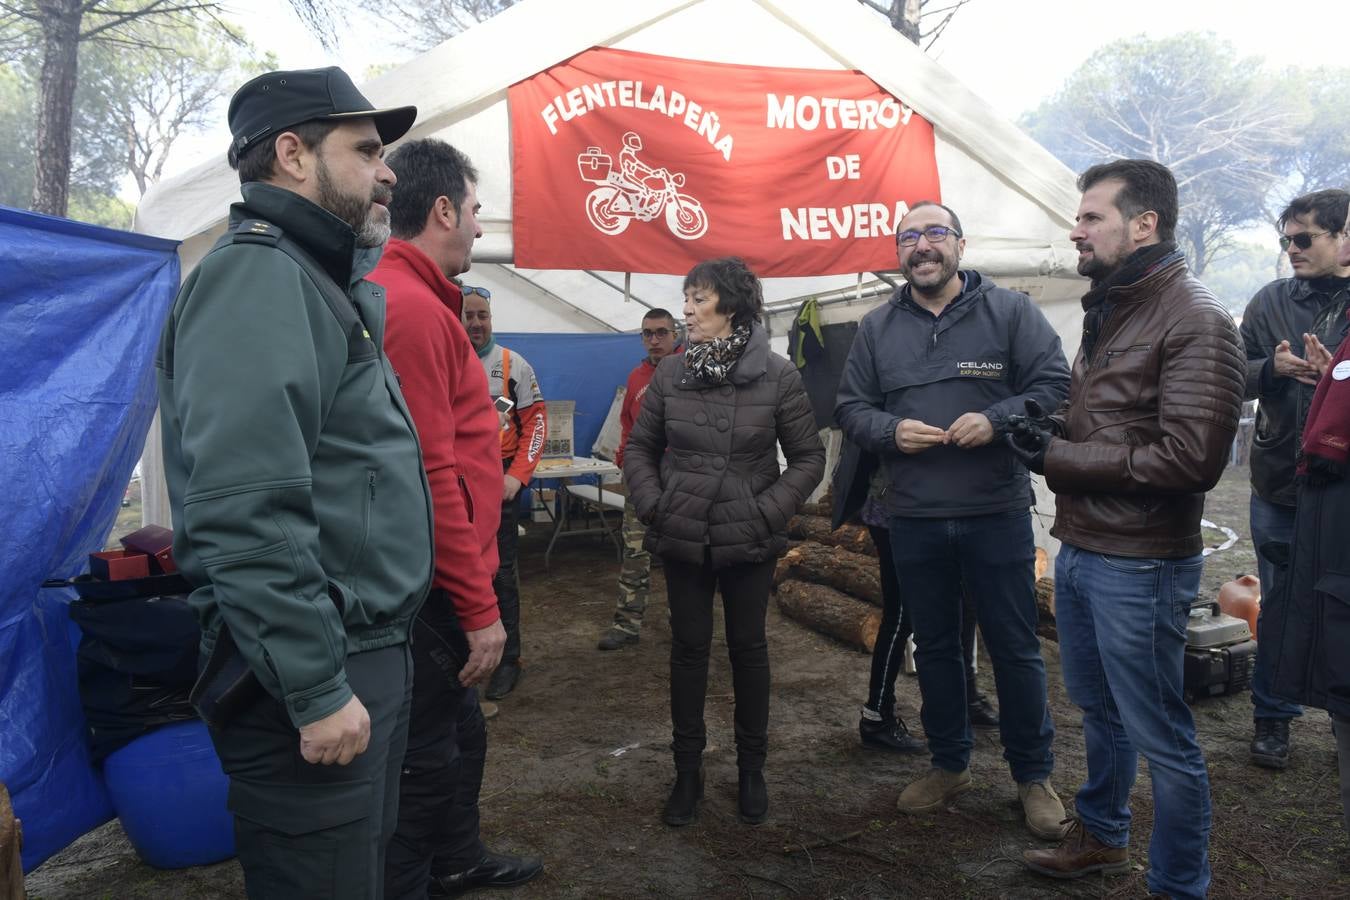
<path fill-rule="evenodd" d="M 618 413 L 621 428 L 618 451 L 614 464 L 624 467 L 624 447 L 633 430 L 637 413 L 643 407 L 647 386 L 652 383 L 656 364 L 678 352 L 679 332 L 675 317 L 666 309 L 651 309 L 643 316 L 643 347 L 647 356 L 628 374 L 624 389 L 624 407 Z M 599 649 L 617 650 L 629 644 L 637 644 L 643 630 L 643 614 L 647 611 L 647 595 L 652 580 L 652 555 L 643 549 L 647 529 L 637 521 L 637 510 L 624 499 L 624 565 L 618 572 L 618 602 L 614 604 L 614 622 L 599 638 Z"/>

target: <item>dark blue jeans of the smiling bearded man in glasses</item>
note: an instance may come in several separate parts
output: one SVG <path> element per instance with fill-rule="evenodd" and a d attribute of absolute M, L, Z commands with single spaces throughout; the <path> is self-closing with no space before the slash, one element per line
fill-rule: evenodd
<path fill-rule="evenodd" d="M 890 521 L 900 602 L 914 625 L 933 765 L 961 772 L 975 735 L 967 716 L 961 654 L 961 587 L 975 606 L 999 694 L 1003 758 L 1018 783 L 1054 769 L 1054 725 L 1045 699 L 1045 660 L 1035 637 L 1035 545 L 1026 511 Z"/>

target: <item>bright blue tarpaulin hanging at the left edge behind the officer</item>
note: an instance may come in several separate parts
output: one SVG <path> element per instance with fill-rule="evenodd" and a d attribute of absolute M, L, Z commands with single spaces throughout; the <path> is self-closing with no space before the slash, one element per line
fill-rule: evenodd
<path fill-rule="evenodd" d="M 0 781 L 34 869 L 112 816 L 85 749 L 73 594 L 155 409 L 177 244 L 0 206 Z"/>

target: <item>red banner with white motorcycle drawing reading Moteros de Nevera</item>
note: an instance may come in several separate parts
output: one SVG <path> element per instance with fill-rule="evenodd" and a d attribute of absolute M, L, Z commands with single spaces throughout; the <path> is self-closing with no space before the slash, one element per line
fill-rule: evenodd
<path fill-rule="evenodd" d="M 941 200 L 933 125 L 859 72 L 594 49 L 508 96 L 526 269 L 894 269 L 900 216 Z"/>

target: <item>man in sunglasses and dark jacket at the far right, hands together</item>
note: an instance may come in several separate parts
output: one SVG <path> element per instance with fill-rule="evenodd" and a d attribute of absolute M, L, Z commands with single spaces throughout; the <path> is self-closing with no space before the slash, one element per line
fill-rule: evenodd
<path fill-rule="evenodd" d="M 1276 227 L 1293 277 L 1262 287 L 1242 314 L 1245 398 L 1258 401 L 1249 461 L 1251 544 L 1265 596 L 1273 596 L 1278 586 L 1276 565 L 1262 548 L 1293 540 L 1293 474 L 1320 375 L 1318 362 L 1334 354 L 1346 333 L 1350 267 L 1339 264 L 1336 256 L 1346 240 L 1347 208 L 1350 193 L 1343 190 L 1318 190 L 1285 206 Z M 1257 623 L 1260 633 L 1260 619 Z M 1303 710 L 1270 694 L 1270 653 L 1269 642 L 1257 641 L 1250 753 L 1256 765 L 1282 769 L 1289 764 L 1289 721 Z"/>

